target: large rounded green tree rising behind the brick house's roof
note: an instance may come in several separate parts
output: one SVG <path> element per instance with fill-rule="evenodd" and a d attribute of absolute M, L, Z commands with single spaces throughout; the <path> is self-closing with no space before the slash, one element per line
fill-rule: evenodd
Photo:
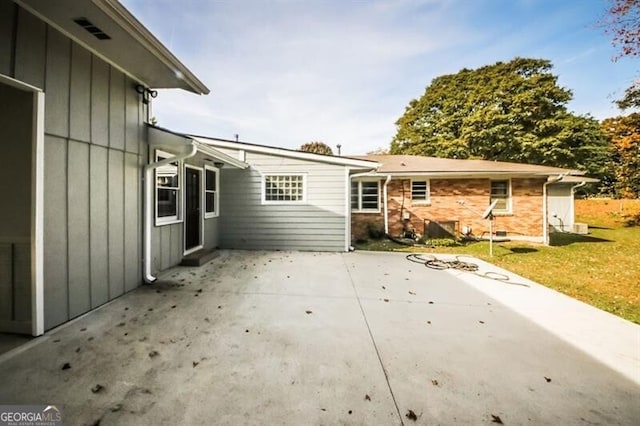
<path fill-rule="evenodd" d="M 396 122 L 392 154 L 479 158 L 579 168 L 608 158 L 599 123 L 567 111 L 545 59 L 515 58 L 435 78 Z"/>

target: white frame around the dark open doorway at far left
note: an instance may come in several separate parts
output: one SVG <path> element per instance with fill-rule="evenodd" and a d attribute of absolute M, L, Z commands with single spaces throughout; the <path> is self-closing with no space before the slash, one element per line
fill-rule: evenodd
<path fill-rule="evenodd" d="M 0 74 L 0 84 L 32 93 L 31 116 L 31 335 L 44 334 L 44 92 Z"/>

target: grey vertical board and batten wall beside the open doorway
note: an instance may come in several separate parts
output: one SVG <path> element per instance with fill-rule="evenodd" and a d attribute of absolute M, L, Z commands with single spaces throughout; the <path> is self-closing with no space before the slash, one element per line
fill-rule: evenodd
<path fill-rule="evenodd" d="M 141 282 L 147 110 L 136 82 L 0 0 L 0 73 L 45 93 L 44 322 L 51 329 Z"/>

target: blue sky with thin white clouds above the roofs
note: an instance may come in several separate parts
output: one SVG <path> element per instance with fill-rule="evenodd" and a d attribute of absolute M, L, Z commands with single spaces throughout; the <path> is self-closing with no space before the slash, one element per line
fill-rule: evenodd
<path fill-rule="evenodd" d="M 211 89 L 160 91 L 159 125 L 285 148 L 386 148 L 434 77 L 516 56 L 551 60 L 569 109 L 597 119 L 640 75 L 611 61 L 606 0 L 121 1 Z"/>

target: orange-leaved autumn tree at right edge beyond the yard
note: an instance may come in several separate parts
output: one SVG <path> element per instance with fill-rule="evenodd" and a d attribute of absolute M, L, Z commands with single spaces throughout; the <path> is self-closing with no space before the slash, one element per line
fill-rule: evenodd
<path fill-rule="evenodd" d="M 607 118 L 602 130 L 611 141 L 616 194 L 640 197 L 640 113 Z"/>

